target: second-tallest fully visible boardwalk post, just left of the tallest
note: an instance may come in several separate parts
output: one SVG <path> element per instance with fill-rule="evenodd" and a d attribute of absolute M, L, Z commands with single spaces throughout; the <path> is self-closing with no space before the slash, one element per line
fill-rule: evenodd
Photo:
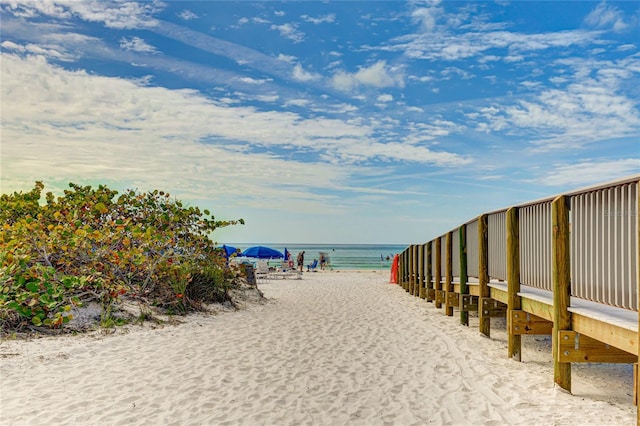
<path fill-rule="evenodd" d="M 520 304 L 520 223 L 518 208 L 507 210 L 507 330 L 511 327 L 511 312 L 522 309 Z M 522 338 L 509 332 L 509 358 L 522 360 Z"/>

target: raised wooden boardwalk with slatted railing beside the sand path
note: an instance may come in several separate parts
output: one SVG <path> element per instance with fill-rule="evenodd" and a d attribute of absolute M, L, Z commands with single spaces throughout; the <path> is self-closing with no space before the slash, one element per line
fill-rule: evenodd
<path fill-rule="evenodd" d="M 637 379 L 640 175 L 482 214 L 400 255 L 398 283 L 490 337 L 506 317 L 507 356 L 521 336 L 552 336 L 554 380 L 571 364 L 633 363 Z M 640 425 L 640 414 L 639 414 Z"/>

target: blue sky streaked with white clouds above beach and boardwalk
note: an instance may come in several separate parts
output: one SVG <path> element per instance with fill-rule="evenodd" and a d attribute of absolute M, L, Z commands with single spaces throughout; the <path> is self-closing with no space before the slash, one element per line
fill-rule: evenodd
<path fill-rule="evenodd" d="M 414 243 L 640 172 L 637 1 L 5 1 L 1 192 L 160 189 L 219 242 Z"/>

